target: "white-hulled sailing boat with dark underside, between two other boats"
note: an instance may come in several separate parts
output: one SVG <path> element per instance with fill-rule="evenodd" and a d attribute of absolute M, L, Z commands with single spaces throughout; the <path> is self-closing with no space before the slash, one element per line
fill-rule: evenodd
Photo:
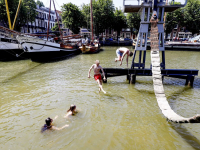
<path fill-rule="evenodd" d="M 23 49 L 29 53 L 30 58 L 32 61 L 37 61 L 37 62 L 49 62 L 49 61 L 57 61 L 60 59 L 64 59 L 70 55 L 77 54 L 79 53 L 79 50 L 77 49 L 77 45 L 74 44 L 65 44 L 63 42 L 63 37 L 62 33 L 60 30 L 59 26 L 59 19 L 58 19 L 58 14 L 55 8 L 55 3 L 54 0 L 54 9 L 57 17 L 57 22 L 58 22 L 58 27 L 60 31 L 60 42 L 52 42 L 48 40 L 48 37 L 51 36 L 49 35 L 49 21 L 50 21 L 50 10 L 51 10 L 51 0 L 50 0 L 50 8 L 49 8 L 49 17 L 48 17 L 48 29 L 47 29 L 47 35 L 42 35 L 46 36 L 47 40 L 40 39 L 38 37 L 33 37 L 29 35 L 23 35 L 23 36 L 18 36 L 17 40 L 20 41 L 22 44 Z M 41 35 L 38 35 L 41 36 Z M 54 38 L 54 41 L 57 38 Z"/>

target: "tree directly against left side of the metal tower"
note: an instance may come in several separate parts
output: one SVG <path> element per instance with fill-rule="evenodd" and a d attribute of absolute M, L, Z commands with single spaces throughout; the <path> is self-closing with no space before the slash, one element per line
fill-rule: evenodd
<path fill-rule="evenodd" d="M 140 28 L 140 14 L 139 13 L 128 13 L 127 16 L 127 25 L 131 29 L 131 35 L 133 32 L 133 29 L 136 29 L 135 34 L 138 33 L 139 28 Z"/>

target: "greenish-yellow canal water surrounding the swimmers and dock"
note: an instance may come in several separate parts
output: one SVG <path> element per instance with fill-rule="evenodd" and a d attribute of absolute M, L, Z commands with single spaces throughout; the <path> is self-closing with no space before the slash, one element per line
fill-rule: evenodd
<path fill-rule="evenodd" d="M 0 149 L 200 149 L 200 124 L 167 122 L 151 77 L 137 77 L 135 85 L 128 84 L 126 76 L 108 78 L 103 84 L 107 94 L 98 93 L 88 70 L 96 59 L 102 67 L 126 68 L 125 62 L 114 62 L 116 49 L 104 47 L 98 54 L 53 63 L 0 62 Z M 166 51 L 166 68 L 200 70 L 200 53 Z M 193 88 L 184 84 L 182 79 L 164 79 L 172 109 L 191 117 L 200 113 L 200 77 Z M 71 104 L 79 112 L 66 119 Z M 55 126 L 69 127 L 41 133 L 45 119 L 56 115 Z"/>

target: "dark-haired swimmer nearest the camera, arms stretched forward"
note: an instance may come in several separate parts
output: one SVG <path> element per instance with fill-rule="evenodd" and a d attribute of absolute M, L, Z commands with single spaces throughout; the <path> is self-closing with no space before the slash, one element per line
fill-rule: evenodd
<path fill-rule="evenodd" d="M 56 117 L 54 118 L 54 120 L 55 120 L 57 117 L 58 117 L 58 116 L 56 116 Z M 69 126 L 68 124 L 66 124 L 66 125 L 64 125 L 64 126 L 61 127 L 61 128 L 57 128 L 57 127 L 55 127 L 55 126 L 52 125 L 53 119 L 51 119 L 50 117 L 48 117 L 48 118 L 45 120 L 45 122 L 46 122 L 46 124 L 44 124 L 44 126 L 42 127 L 41 132 L 44 132 L 44 131 L 49 130 L 49 129 L 51 129 L 51 130 L 62 130 L 62 129 L 64 129 L 64 128 L 66 128 L 66 127 Z"/>

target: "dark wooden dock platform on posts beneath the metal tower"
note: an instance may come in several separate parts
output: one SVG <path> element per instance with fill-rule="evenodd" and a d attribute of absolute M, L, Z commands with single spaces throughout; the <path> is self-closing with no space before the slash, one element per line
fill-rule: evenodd
<path fill-rule="evenodd" d="M 136 82 L 136 76 L 152 76 L 151 69 L 123 69 L 123 68 L 103 68 L 106 79 L 116 76 L 127 76 L 129 83 Z M 195 69 L 161 69 L 161 75 L 173 78 L 185 79 L 185 85 L 193 86 L 195 76 L 198 76 L 199 70 Z M 106 83 L 104 81 L 104 83 Z"/>

